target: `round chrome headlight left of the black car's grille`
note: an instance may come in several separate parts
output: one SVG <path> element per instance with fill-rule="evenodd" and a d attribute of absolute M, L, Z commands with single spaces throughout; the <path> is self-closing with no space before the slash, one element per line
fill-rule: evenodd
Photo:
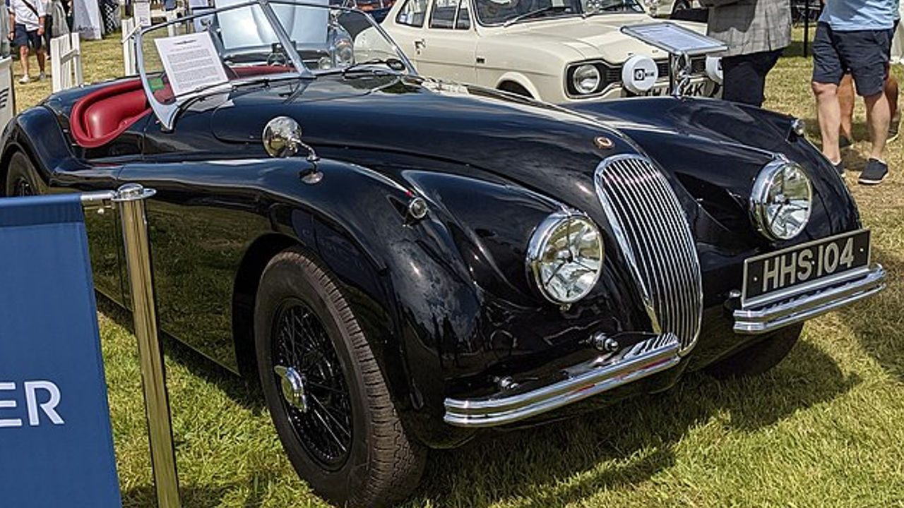
<path fill-rule="evenodd" d="M 548 300 L 570 304 L 587 296 L 603 269 L 603 238 L 577 212 L 554 212 L 533 232 L 527 265 Z"/>

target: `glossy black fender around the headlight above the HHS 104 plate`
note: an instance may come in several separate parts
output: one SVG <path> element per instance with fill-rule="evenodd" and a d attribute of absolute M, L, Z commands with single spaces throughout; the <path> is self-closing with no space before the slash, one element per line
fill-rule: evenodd
<path fill-rule="evenodd" d="M 631 99 L 576 106 L 617 127 L 698 202 L 715 224 L 702 240 L 780 249 L 860 227 L 856 204 L 833 167 L 792 129 L 794 118 L 715 99 Z M 759 171 L 777 155 L 803 165 L 814 186 L 810 224 L 795 240 L 768 243 L 749 219 Z"/>

